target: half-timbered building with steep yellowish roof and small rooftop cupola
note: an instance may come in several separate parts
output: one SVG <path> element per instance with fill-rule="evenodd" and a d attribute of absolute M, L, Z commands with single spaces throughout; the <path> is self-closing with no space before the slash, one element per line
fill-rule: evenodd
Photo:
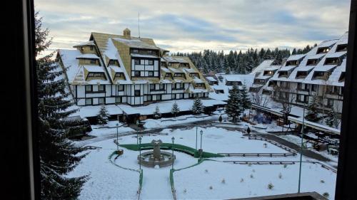
<path fill-rule="evenodd" d="M 151 38 L 91 33 L 56 60 L 76 104 L 146 105 L 163 100 L 208 98 L 211 88 L 188 57 L 169 56 Z"/>

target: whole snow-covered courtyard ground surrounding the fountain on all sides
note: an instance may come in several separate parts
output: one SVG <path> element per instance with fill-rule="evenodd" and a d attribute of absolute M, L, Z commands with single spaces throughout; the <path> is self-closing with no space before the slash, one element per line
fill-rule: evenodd
<path fill-rule="evenodd" d="M 198 148 L 201 145 L 199 134 L 201 130 L 203 130 L 202 149 L 206 152 L 286 152 L 286 150 L 270 143 L 268 143 L 268 147 L 263 147 L 263 144 L 266 143 L 264 141 L 248 140 L 247 137 L 243 137 L 241 132 L 229 131 L 220 127 L 198 127 Z M 142 142 L 162 140 L 162 142 L 171 143 L 171 137 L 175 137 L 176 144 L 196 147 L 196 128 L 164 129 L 155 135 L 144 135 Z M 136 135 L 121 136 L 119 144 L 136 144 Z M 69 174 L 69 177 L 90 175 L 90 179 L 84 185 L 79 199 L 136 199 L 136 191 L 139 188 L 139 172 L 122 169 L 109 161 L 109 154 L 116 149 L 113 139 L 94 142 L 89 145 L 102 148 L 91 150 L 74 172 Z M 139 169 L 136 159 L 139 152 L 121 149 L 124 149 L 124 154 L 115 160 L 115 164 L 129 169 Z M 181 152 L 175 152 L 175 154 L 175 169 L 189 167 L 198 162 L 198 159 L 188 154 Z M 218 161 L 296 161 L 298 156 L 219 157 L 215 159 Z M 306 161 L 308 158 L 303 157 L 303 160 Z M 171 167 L 155 169 L 143 166 L 142 169 L 144 179 L 141 199 L 173 198 L 169 181 Z M 206 169 L 208 172 L 205 172 Z M 336 174 L 322 168 L 320 164 L 305 162 L 302 170 L 302 191 L 317 191 L 320 194 L 328 192 L 333 198 Z M 279 178 L 280 173 L 281 179 Z M 251 174 L 253 178 L 250 177 Z M 225 183 L 222 183 L 222 179 L 225 180 Z M 241 179 L 243 179 L 242 182 Z M 280 164 L 252 164 L 249 166 L 247 164 L 205 161 L 194 167 L 174 172 L 174 184 L 178 199 L 228 199 L 294 193 L 297 191 L 297 182 L 298 163 L 288 164 L 284 168 Z M 269 183 L 274 186 L 271 190 L 267 189 Z M 210 186 L 212 186 L 212 189 L 209 188 Z"/>

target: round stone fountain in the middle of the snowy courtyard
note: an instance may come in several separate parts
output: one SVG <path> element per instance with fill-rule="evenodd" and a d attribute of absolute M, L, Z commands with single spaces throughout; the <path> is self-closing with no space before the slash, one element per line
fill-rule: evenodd
<path fill-rule="evenodd" d="M 154 149 L 150 152 L 141 153 L 141 157 L 138 156 L 138 162 L 141 162 L 142 165 L 146 167 L 167 167 L 174 163 L 176 156 L 169 152 L 161 152 L 160 145 L 162 144 L 161 140 L 152 140 Z"/>

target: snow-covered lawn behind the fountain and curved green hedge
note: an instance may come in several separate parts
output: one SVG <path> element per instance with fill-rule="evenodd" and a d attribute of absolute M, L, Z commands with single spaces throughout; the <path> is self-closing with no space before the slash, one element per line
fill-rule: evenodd
<path fill-rule="evenodd" d="M 285 153 L 287 152 L 280 147 L 276 147 L 261 140 L 248 140 L 248 137 L 243 137 L 242 132 L 229 131 L 219 127 L 198 127 L 197 148 L 201 147 L 200 131 L 202 135 L 202 149 L 205 152 L 213 153 Z M 164 135 L 167 134 L 167 135 Z M 149 143 L 152 140 L 161 140 L 165 143 L 171 143 L 171 137 L 175 137 L 176 144 L 183 144 L 188 147 L 196 147 L 196 128 L 187 130 L 171 130 L 165 129 L 160 132 L 160 135 L 144 135 L 142 143 Z M 120 144 L 136 144 L 136 137 L 128 135 L 121 137 Z M 268 143 L 267 147 L 263 147 L 264 143 Z"/>

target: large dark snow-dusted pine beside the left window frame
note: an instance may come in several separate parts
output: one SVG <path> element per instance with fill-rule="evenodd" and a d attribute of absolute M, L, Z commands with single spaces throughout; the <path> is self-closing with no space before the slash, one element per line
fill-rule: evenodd
<path fill-rule="evenodd" d="M 51 44 L 49 30 L 42 28 L 39 13 L 35 14 L 35 55 L 39 56 Z M 40 158 L 41 199 L 77 199 L 88 179 L 66 177 L 86 157 L 84 149 L 74 146 L 70 122 L 63 120 L 76 112 L 69 107 L 69 92 L 62 78 L 63 70 L 53 60 L 54 53 L 36 60 L 38 107 L 38 138 Z"/>

